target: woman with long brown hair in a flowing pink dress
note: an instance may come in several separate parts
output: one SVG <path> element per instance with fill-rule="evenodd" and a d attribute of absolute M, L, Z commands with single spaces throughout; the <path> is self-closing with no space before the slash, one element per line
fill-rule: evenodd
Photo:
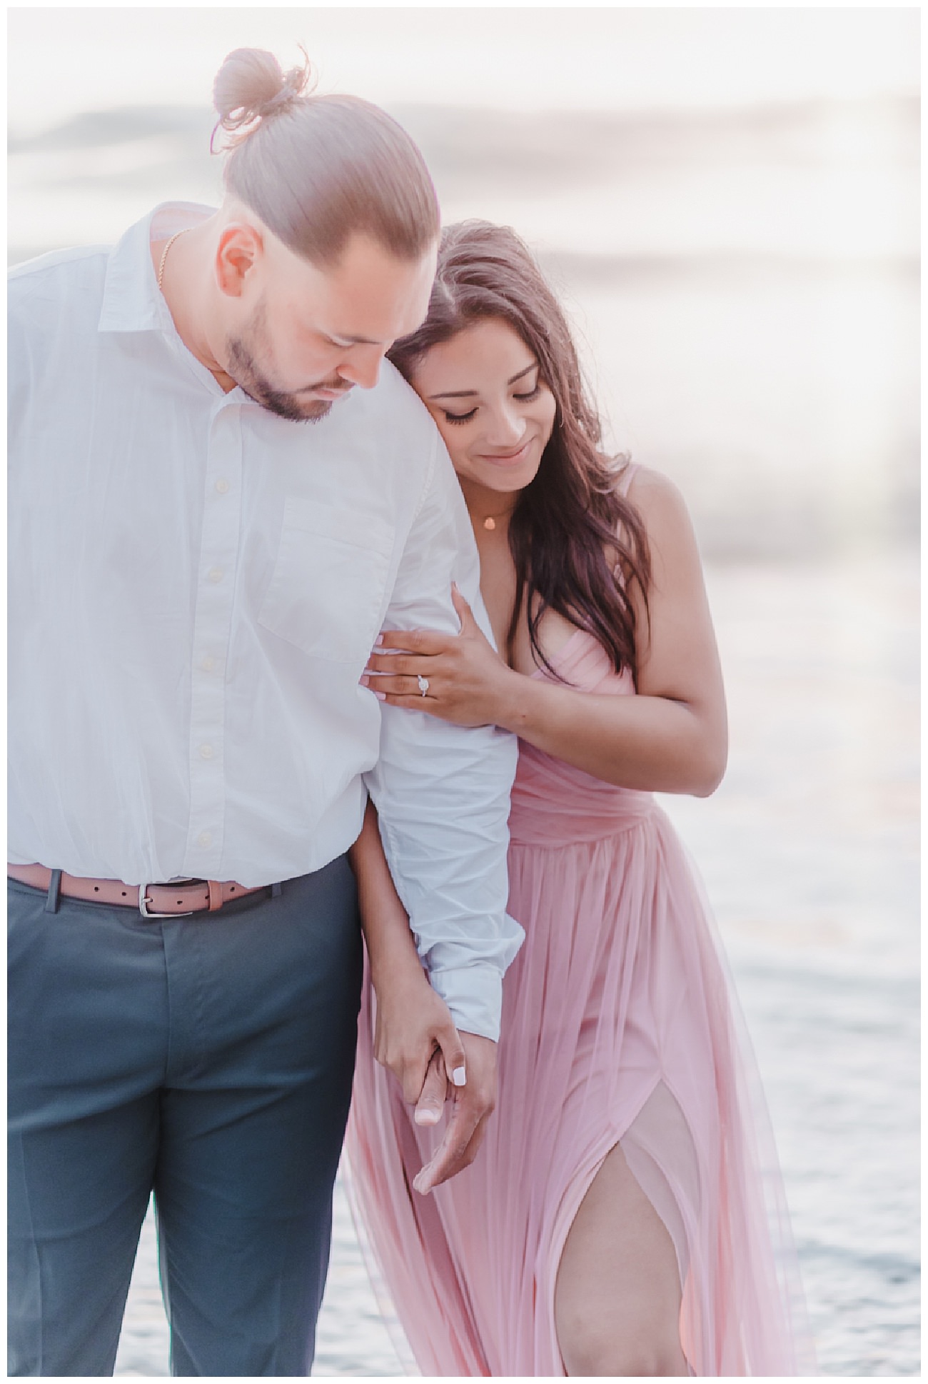
<path fill-rule="evenodd" d="M 434 999 L 360 843 L 375 984 L 387 963 L 409 977 L 404 1012 L 375 1020 L 365 999 L 349 1131 L 400 1320 L 425 1374 L 797 1373 L 769 1135 L 762 1156 L 698 886 L 650 796 L 708 794 L 726 758 L 686 509 L 600 453 L 564 317 L 512 231 L 445 231 L 429 317 L 391 358 L 448 446 L 501 652 L 455 594 L 458 638 L 387 631 L 364 681 L 519 735 L 509 908 L 526 929 L 497 1111 L 476 1161 L 430 1192 L 440 1131 L 376 1066 L 372 1027 L 402 1073 L 397 1034 Z"/>

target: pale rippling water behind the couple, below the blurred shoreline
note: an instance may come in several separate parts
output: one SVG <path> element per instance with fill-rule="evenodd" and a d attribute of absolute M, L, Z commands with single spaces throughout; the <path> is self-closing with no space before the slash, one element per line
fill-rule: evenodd
<path fill-rule="evenodd" d="M 826 1374 L 920 1373 L 917 591 L 906 558 L 711 567 L 732 767 L 664 800 L 732 960 Z M 116 1372 L 166 1373 L 166 1341 L 147 1225 Z M 314 1373 L 407 1372 L 337 1187 Z"/>

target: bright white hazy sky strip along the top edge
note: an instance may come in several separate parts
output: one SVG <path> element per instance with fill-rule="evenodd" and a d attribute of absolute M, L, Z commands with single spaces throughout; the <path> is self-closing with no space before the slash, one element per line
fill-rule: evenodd
<path fill-rule="evenodd" d="M 11 7 L 10 126 L 209 101 L 234 47 L 303 42 L 321 89 L 386 104 L 705 108 L 914 94 L 918 10 Z"/>

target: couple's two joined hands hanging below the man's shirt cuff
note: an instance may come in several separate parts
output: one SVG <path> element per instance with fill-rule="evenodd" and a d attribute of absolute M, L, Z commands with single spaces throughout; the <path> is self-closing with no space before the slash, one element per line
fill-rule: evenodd
<path fill-rule="evenodd" d="M 402 976 L 391 969 L 386 983 L 373 976 L 373 1056 L 397 1077 L 404 1100 L 415 1104 L 415 1122 L 437 1124 L 445 1102 L 452 1100 L 444 1139 L 414 1181 L 425 1196 L 477 1156 L 497 1103 L 497 1045 L 490 1038 L 458 1032 L 448 1006 L 418 962 Z"/>

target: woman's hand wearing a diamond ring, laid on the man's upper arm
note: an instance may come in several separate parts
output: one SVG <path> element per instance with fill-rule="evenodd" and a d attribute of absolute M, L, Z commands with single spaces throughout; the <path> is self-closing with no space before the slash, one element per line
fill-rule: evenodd
<path fill-rule="evenodd" d="M 361 682 L 389 706 L 427 711 L 455 725 L 498 725 L 501 706 L 519 674 L 506 667 L 455 585 L 451 599 L 461 634 L 384 630 Z M 419 678 L 427 682 L 425 692 Z"/>

